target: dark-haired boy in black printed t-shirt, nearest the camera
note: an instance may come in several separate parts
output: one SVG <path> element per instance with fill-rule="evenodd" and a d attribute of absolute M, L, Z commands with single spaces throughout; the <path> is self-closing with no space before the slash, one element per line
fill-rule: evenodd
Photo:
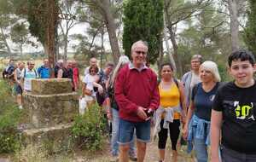
<path fill-rule="evenodd" d="M 219 157 L 222 162 L 253 162 L 256 161 L 256 84 L 253 79 L 256 66 L 253 54 L 246 50 L 232 53 L 229 67 L 235 81 L 218 90 L 212 106 L 212 162 L 219 162 Z M 218 148 L 221 148 L 220 156 Z"/>

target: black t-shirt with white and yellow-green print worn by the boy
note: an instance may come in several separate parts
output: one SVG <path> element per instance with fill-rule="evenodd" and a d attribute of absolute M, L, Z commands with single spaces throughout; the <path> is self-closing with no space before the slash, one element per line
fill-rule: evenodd
<path fill-rule="evenodd" d="M 256 154 L 256 84 L 230 82 L 221 87 L 212 109 L 223 113 L 222 143 L 240 153 Z"/>

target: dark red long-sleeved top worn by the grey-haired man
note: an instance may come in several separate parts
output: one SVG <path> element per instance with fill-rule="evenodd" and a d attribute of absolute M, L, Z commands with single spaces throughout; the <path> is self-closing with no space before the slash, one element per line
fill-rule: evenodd
<path fill-rule="evenodd" d="M 156 74 L 148 67 L 139 71 L 125 65 L 115 79 L 114 96 L 119 106 L 120 119 L 144 121 L 137 116 L 137 108 L 156 110 L 160 104 Z"/>

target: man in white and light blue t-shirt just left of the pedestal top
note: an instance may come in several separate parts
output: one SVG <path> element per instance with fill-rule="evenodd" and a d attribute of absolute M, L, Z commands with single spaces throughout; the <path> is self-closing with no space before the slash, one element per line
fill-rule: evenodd
<path fill-rule="evenodd" d="M 38 72 L 34 69 L 35 63 L 33 61 L 27 62 L 27 67 L 21 72 L 21 85 L 23 90 L 30 92 L 32 90 L 32 79 L 38 78 Z"/>

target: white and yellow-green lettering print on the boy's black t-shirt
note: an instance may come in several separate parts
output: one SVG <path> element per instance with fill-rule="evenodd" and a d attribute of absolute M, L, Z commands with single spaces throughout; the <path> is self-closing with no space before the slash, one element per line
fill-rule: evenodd
<path fill-rule="evenodd" d="M 234 101 L 234 107 L 236 112 L 236 119 L 254 119 L 253 116 L 253 102 L 251 105 L 240 105 L 239 101 Z"/>

